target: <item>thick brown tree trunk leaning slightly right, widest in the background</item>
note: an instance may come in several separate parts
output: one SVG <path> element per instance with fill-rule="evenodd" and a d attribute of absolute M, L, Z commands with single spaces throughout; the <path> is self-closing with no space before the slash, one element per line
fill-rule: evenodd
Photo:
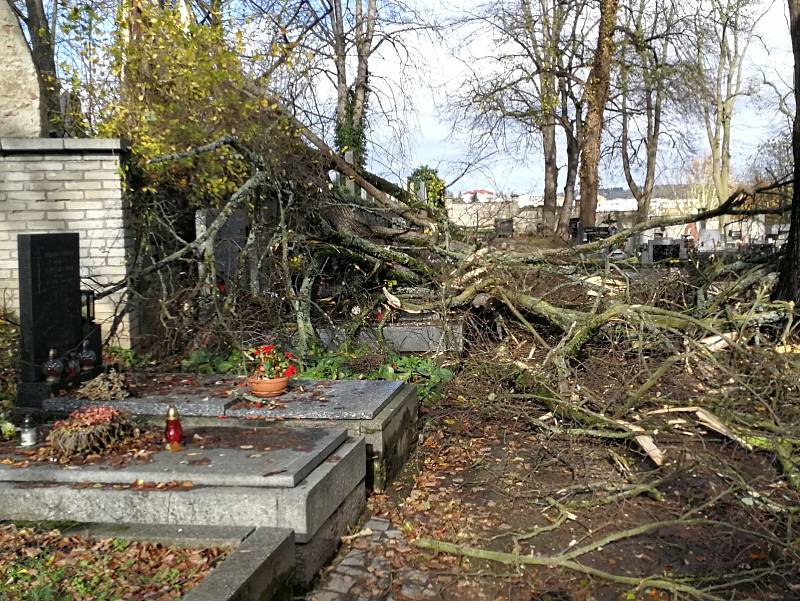
<path fill-rule="evenodd" d="M 581 152 L 581 225 L 594 227 L 597 217 L 597 175 L 600 164 L 600 138 L 603 134 L 603 112 L 608 102 L 611 60 L 614 53 L 614 27 L 619 0 L 600 0 L 600 27 L 597 50 L 586 84 L 586 122 L 583 127 Z"/>

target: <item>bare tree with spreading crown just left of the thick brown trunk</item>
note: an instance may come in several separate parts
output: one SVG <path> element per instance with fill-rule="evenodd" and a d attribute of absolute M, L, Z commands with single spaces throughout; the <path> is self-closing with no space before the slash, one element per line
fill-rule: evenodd
<path fill-rule="evenodd" d="M 498 51 L 475 69 L 459 99 L 471 125 L 509 142 L 541 144 L 544 221 L 556 231 L 569 222 L 579 164 L 585 46 L 591 35 L 585 2 L 521 0 L 492 3 L 465 21 L 478 23 Z M 489 74 L 485 72 L 488 70 Z M 559 128 L 567 153 L 564 204 L 558 208 Z M 518 144 L 517 144 L 518 145 Z M 565 229 L 565 228 L 563 228 Z"/>

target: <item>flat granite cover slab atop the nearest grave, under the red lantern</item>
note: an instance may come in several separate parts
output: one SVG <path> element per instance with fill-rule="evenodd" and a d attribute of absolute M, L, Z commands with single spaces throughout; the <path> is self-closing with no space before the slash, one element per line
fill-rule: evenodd
<path fill-rule="evenodd" d="M 290 428 L 275 425 L 253 437 L 250 448 L 186 448 L 160 451 L 148 463 L 121 468 L 107 465 L 32 464 L 18 469 L 0 465 L 0 481 L 74 484 L 130 484 L 190 481 L 193 486 L 294 487 L 346 439 L 343 428 Z M 296 438 L 292 446 L 272 447 L 275 436 Z"/>

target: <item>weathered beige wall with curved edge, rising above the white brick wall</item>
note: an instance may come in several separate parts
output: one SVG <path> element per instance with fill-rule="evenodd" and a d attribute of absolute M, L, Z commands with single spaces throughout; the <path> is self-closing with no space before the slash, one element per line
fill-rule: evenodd
<path fill-rule="evenodd" d="M 40 136 L 39 80 L 8 2 L 0 2 L 0 137 Z"/>

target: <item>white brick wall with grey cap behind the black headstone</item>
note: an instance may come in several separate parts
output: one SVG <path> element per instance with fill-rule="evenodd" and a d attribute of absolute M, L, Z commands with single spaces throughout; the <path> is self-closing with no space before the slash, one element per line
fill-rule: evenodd
<path fill-rule="evenodd" d="M 18 307 L 17 234 L 78 232 L 81 286 L 100 289 L 125 277 L 134 247 L 126 229 L 119 140 L 0 138 L 0 303 Z M 97 302 L 107 336 L 125 298 Z M 118 319 L 113 344 L 130 346 L 137 316 Z"/>

